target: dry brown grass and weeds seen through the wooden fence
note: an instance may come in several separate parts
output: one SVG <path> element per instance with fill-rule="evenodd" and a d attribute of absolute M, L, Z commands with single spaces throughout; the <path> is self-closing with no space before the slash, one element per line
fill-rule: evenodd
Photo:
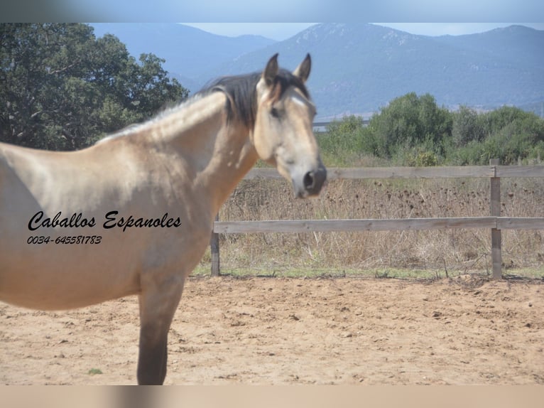
<path fill-rule="evenodd" d="M 541 217 L 544 181 L 503 179 L 502 215 Z M 486 179 L 349 181 L 328 183 L 319 198 L 295 200 L 285 181 L 243 181 L 223 206 L 221 220 L 478 217 L 489 215 Z M 503 231 L 506 269 L 543 265 L 543 231 Z M 222 272 L 251 274 L 337 271 L 391 276 L 489 273 L 489 230 L 312 232 L 221 237 Z M 209 270 L 209 256 L 202 268 Z"/>

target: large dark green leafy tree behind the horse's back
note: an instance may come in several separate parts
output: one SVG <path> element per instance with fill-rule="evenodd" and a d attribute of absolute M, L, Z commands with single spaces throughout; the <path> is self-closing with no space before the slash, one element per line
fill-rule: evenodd
<path fill-rule="evenodd" d="M 86 24 L 0 24 L 0 141 L 73 150 L 188 95 L 118 38 Z"/>

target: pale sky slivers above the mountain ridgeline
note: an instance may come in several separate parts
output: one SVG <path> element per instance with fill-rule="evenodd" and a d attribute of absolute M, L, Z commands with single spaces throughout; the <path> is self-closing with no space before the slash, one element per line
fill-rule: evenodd
<path fill-rule="evenodd" d="M 184 23 L 221 36 L 253 34 L 282 41 L 315 23 Z M 544 23 L 375 23 L 412 34 L 442 36 L 482 33 L 493 28 L 521 24 L 544 30 Z"/>

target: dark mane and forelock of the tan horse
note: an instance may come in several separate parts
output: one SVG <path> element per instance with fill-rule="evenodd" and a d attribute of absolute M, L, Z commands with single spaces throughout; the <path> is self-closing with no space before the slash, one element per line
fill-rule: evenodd
<path fill-rule="evenodd" d="M 251 129 L 255 124 L 256 85 L 260 79 L 261 73 L 220 77 L 200 90 L 197 95 L 208 95 L 217 91 L 224 92 L 227 95 L 227 119 L 229 122 L 237 119 Z M 271 97 L 274 100 L 279 100 L 283 92 L 290 86 L 298 88 L 305 97 L 310 98 L 304 83 L 288 70 L 280 69 L 272 86 Z"/>

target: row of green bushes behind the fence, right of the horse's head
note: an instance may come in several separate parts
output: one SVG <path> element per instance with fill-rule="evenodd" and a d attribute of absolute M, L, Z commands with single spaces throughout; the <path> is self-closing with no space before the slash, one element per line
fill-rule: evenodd
<path fill-rule="evenodd" d="M 544 119 L 516 107 L 449 112 L 431 95 L 412 92 L 391 101 L 368 127 L 357 117 L 333 122 L 320 146 L 335 166 L 357 166 L 363 156 L 401 166 L 528 163 L 544 158 Z"/>

